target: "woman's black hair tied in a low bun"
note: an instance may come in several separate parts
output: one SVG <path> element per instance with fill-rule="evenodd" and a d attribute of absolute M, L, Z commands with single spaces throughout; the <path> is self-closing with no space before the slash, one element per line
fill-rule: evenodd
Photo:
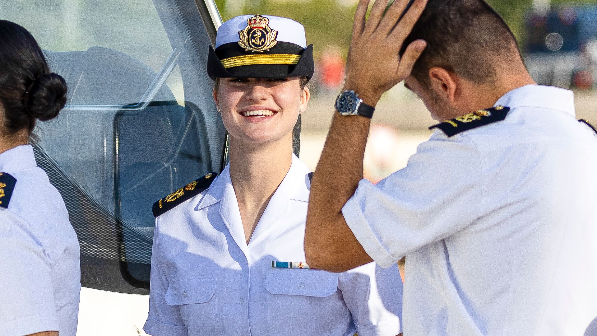
<path fill-rule="evenodd" d="M 33 131 L 36 120 L 55 118 L 66 103 L 66 81 L 50 71 L 35 38 L 14 22 L 0 20 L 2 133 Z"/>

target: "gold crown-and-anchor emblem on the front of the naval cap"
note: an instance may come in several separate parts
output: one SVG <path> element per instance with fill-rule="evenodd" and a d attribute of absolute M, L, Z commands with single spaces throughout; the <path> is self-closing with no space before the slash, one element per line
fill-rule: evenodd
<path fill-rule="evenodd" d="M 278 30 L 269 28 L 269 19 L 257 14 L 247 20 L 247 28 L 238 32 L 238 45 L 245 51 L 269 51 L 278 41 Z"/>

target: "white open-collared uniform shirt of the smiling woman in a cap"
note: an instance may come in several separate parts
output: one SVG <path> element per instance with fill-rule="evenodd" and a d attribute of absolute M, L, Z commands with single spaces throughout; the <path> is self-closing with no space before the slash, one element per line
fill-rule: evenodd
<path fill-rule="evenodd" d="M 402 281 L 373 262 L 344 273 L 304 262 L 309 170 L 297 157 L 247 246 L 229 167 L 156 220 L 150 335 L 396 335 Z"/>

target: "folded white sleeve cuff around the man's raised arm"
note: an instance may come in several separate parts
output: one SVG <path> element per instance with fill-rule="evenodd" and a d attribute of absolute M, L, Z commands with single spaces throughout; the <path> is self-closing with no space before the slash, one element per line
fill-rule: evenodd
<path fill-rule="evenodd" d="M 392 267 L 398 261 L 393 255 L 388 253 L 386 249 L 377 240 L 376 235 L 371 230 L 367 219 L 363 216 L 361 211 L 361 204 L 359 204 L 358 194 L 360 188 L 370 188 L 373 184 L 367 180 L 361 180 L 356 193 L 342 207 L 342 215 L 344 221 L 348 224 L 350 231 L 355 235 L 356 239 L 361 243 L 365 252 L 383 268 Z"/>

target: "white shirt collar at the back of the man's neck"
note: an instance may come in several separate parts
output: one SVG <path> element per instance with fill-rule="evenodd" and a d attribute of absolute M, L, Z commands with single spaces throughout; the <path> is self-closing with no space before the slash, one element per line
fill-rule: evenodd
<path fill-rule="evenodd" d="M 494 106 L 508 106 L 510 109 L 527 106 L 553 109 L 574 117 L 574 93 L 564 88 L 545 85 L 524 85 L 504 94 Z"/>

